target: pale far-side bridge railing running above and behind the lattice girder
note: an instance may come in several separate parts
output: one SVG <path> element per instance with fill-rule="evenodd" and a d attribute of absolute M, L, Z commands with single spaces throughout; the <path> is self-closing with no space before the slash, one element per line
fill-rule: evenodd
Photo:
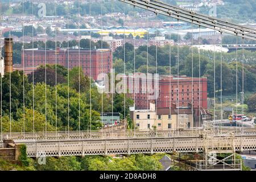
<path fill-rule="evenodd" d="M 85 140 L 85 139 L 115 139 L 115 138 L 168 138 L 168 137 L 202 137 L 208 136 L 239 136 L 256 135 L 255 128 L 220 127 L 212 130 L 187 129 L 187 130 L 113 130 L 113 131 L 49 131 L 35 133 L 3 133 L 2 139 L 14 140 Z"/>

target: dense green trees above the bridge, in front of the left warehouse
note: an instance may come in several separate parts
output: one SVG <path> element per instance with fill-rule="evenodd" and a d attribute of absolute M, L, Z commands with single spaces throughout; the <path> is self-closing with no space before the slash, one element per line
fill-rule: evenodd
<path fill-rule="evenodd" d="M 80 130 L 99 130 L 102 127 L 100 113 L 112 111 L 110 104 L 112 97 L 98 93 L 93 81 L 90 86 L 90 78 L 83 75 L 81 68 L 75 67 L 68 73 L 67 68 L 60 65 L 42 66 L 34 72 L 34 83 L 32 78 L 32 73 L 23 76 L 23 72 L 18 71 L 3 76 L 1 80 L 3 132 L 10 131 L 10 120 L 12 132 L 55 131 L 56 126 L 60 131 L 68 129 L 77 131 L 79 124 Z M 90 88 L 92 88 L 91 107 Z M 126 109 L 124 109 L 123 97 L 123 94 L 113 94 L 113 111 L 121 113 L 121 118 L 126 112 L 125 115 L 129 118 L 129 106 L 133 105 L 133 101 L 126 98 Z M 90 125 L 90 117 L 92 125 Z M 23 122 L 24 119 L 26 122 Z M 129 126 L 132 127 L 130 119 L 128 121 Z"/>

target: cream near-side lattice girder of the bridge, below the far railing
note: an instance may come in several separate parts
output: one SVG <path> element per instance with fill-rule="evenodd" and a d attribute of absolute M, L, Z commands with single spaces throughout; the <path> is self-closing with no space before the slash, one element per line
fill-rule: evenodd
<path fill-rule="evenodd" d="M 160 152 L 233 152 L 256 150 L 256 135 L 236 137 L 168 137 L 168 138 L 118 138 L 58 141 L 30 141 L 27 154 L 38 156 L 153 154 Z"/>

